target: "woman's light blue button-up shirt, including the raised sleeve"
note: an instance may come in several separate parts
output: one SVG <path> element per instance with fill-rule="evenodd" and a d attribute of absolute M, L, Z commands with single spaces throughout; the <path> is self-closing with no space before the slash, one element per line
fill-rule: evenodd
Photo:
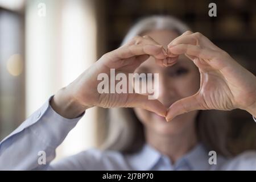
<path fill-rule="evenodd" d="M 51 98 L 50 98 L 51 99 Z M 82 117 L 82 116 L 81 116 Z M 197 144 L 175 164 L 155 148 L 144 144 L 135 154 L 90 149 L 51 163 L 69 131 L 81 118 L 67 119 L 57 114 L 49 100 L 0 143 L 1 170 L 255 170 L 256 152 L 246 151 L 232 159 L 217 154 L 217 164 L 209 164 L 208 152 Z M 256 119 L 254 118 L 256 121 Z M 40 164 L 39 151 L 46 153 Z"/>

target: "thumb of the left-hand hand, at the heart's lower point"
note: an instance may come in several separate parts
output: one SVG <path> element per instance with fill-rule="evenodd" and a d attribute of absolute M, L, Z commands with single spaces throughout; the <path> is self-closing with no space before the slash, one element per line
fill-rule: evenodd
<path fill-rule="evenodd" d="M 128 102 L 130 103 L 128 107 L 139 107 L 166 117 L 166 107 L 158 100 L 149 100 L 146 95 L 135 93 Z"/>

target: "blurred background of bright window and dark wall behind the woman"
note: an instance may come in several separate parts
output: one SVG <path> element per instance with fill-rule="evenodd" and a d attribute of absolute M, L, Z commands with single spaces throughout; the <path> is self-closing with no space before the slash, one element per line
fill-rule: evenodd
<path fill-rule="evenodd" d="M 216 17 L 208 15 L 211 2 Z M 183 20 L 256 75 L 255 10 L 253 0 L 0 0 L 0 139 L 117 48 L 129 27 L 147 15 Z M 96 108 L 86 111 L 57 148 L 57 159 L 97 146 L 97 116 Z M 251 115 L 234 110 L 232 117 L 233 144 L 255 145 Z"/>

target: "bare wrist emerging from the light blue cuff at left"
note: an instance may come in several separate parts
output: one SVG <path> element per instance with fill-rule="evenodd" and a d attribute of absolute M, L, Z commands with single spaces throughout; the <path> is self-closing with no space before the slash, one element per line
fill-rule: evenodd
<path fill-rule="evenodd" d="M 74 97 L 67 93 L 67 89 L 60 89 L 50 101 L 52 109 L 64 118 L 79 117 L 89 107 L 83 106 Z"/>

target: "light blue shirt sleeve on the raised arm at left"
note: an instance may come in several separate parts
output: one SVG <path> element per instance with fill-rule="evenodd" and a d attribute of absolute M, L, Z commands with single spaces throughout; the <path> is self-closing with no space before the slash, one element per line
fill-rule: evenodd
<path fill-rule="evenodd" d="M 57 146 L 84 115 L 62 117 L 49 105 L 51 98 L 0 142 L 0 170 L 51 169 Z"/>

